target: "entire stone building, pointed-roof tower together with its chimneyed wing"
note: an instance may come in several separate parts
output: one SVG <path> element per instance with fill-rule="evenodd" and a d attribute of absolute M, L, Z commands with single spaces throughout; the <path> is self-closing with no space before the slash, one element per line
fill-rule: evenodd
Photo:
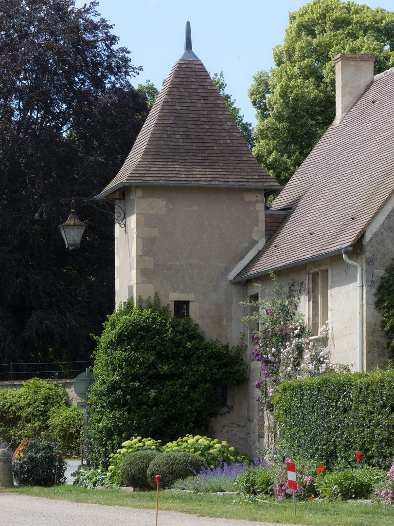
<path fill-rule="evenodd" d="M 331 361 L 352 371 L 385 363 L 374 291 L 394 254 L 394 72 L 374 77 L 374 58 L 335 57 L 336 119 L 282 189 L 247 147 L 186 26 L 183 55 L 97 196 L 125 199 L 116 304 L 158 292 L 173 316 L 234 346 L 246 329 L 240 302 L 258 299 L 273 270 L 285 286 L 303 282 L 299 309 L 315 339 L 329 320 Z M 232 409 L 213 432 L 254 454 L 265 447 L 260 367 L 251 348 L 245 360 L 250 380 L 227 390 Z"/>

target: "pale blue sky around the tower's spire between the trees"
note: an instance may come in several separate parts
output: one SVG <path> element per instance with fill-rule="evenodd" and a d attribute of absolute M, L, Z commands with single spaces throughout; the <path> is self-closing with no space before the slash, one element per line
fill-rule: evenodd
<path fill-rule="evenodd" d="M 76 5 L 85 2 L 76 0 Z M 194 53 L 211 73 L 223 71 L 226 93 L 236 99 L 245 120 L 255 124 L 255 110 L 247 90 L 253 75 L 274 63 L 272 48 L 283 43 L 288 13 L 307 2 L 299 0 L 101 0 L 98 12 L 115 25 L 119 45 L 132 53 L 132 63 L 146 79 L 161 88 L 164 78 L 183 53 L 184 31 L 191 23 Z M 358 1 L 370 7 L 393 10 L 392 0 Z"/>

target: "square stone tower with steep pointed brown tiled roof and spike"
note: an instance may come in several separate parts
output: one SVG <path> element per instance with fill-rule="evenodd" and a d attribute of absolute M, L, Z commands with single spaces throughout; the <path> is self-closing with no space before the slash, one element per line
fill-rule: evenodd
<path fill-rule="evenodd" d="M 244 287 L 228 276 L 263 246 L 268 196 L 282 187 L 257 163 L 194 54 L 189 24 L 185 40 L 129 156 L 97 197 L 125 199 L 126 228 L 115 225 L 116 304 L 158 292 L 172 315 L 236 346 Z M 254 389 L 225 397 L 232 409 L 217 418 L 215 436 L 245 450 Z"/>

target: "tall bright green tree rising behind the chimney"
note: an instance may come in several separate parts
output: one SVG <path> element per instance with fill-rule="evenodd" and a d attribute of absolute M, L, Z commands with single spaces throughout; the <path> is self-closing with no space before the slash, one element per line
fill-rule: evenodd
<path fill-rule="evenodd" d="M 275 67 L 249 90 L 257 110 L 253 153 L 285 184 L 335 117 L 338 53 L 374 53 L 375 74 L 394 65 L 394 13 L 340 0 L 313 0 L 289 13 Z"/>

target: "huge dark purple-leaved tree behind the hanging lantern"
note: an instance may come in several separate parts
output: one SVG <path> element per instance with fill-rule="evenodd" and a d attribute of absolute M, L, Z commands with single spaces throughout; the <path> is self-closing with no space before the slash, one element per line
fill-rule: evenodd
<path fill-rule="evenodd" d="M 141 68 L 96 6 L 0 7 L 0 363 L 89 359 L 90 333 L 113 309 L 113 223 L 78 210 L 89 228 L 72 251 L 58 232 L 60 198 L 97 195 L 148 113 L 129 82 Z M 84 366 L 22 366 L 62 368 Z"/>

